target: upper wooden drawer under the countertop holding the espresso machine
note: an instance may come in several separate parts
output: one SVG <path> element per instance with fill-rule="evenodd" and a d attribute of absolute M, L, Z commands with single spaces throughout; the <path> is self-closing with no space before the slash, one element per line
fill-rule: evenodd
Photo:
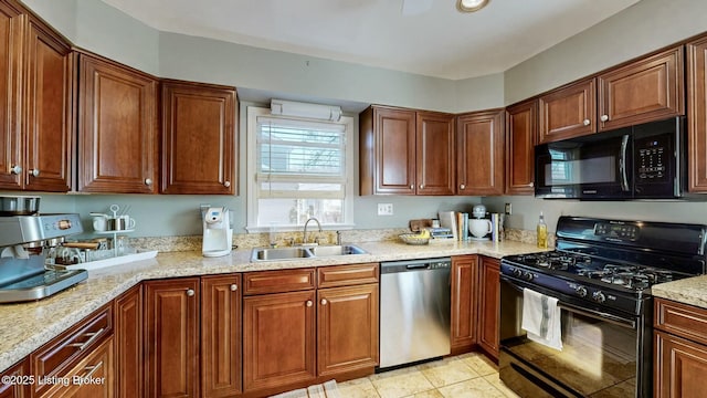
<path fill-rule="evenodd" d="M 113 334 L 112 303 L 94 312 L 59 337 L 30 355 L 32 374 L 38 378 L 62 377 L 77 360 L 85 357 L 105 336 Z M 43 391 L 51 385 L 35 385 Z"/>

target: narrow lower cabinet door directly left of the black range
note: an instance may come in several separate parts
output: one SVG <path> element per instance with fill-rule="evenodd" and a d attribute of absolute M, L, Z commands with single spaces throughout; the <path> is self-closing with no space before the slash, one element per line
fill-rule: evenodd
<path fill-rule="evenodd" d="M 478 345 L 498 359 L 498 322 L 500 312 L 500 262 L 481 256 L 478 298 Z"/>

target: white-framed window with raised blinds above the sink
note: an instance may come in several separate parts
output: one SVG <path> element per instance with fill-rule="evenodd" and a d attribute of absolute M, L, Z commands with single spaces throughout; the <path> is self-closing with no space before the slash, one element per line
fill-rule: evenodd
<path fill-rule="evenodd" d="M 319 122 L 247 107 L 247 230 L 352 224 L 354 119 Z"/>

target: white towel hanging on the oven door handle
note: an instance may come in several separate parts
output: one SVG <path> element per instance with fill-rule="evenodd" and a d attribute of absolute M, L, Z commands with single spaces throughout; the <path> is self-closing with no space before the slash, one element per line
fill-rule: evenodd
<path fill-rule="evenodd" d="M 529 339 L 562 350 L 561 310 L 558 300 L 530 289 L 523 290 L 523 323 Z"/>

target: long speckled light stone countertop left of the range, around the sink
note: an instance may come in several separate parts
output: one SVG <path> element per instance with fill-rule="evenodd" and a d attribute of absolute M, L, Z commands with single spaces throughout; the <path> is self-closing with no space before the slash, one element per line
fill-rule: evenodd
<path fill-rule="evenodd" d="M 51 297 L 30 303 L 0 304 L 0 371 L 144 280 L 463 254 L 499 259 L 542 250 L 534 244 L 516 241 L 443 242 L 428 245 L 384 241 L 356 245 L 368 254 L 251 263 L 251 249 L 235 250 L 230 255 L 220 258 L 204 258 L 198 251 L 169 252 L 149 260 L 92 270 L 88 280 Z M 707 279 L 705 281 L 707 285 Z"/>

